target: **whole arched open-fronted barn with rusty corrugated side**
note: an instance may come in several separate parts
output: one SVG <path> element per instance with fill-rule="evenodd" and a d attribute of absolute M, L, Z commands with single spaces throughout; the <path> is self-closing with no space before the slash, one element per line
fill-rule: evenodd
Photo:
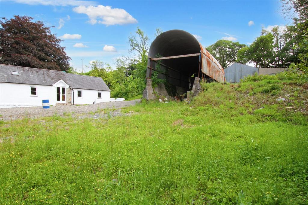
<path fill-rule="evenodd" d="M 153 72 L 164 79 L 180 95 L 191 90 L 195 77 L 225 81 L 224 69 L 217 60 L 190 33 L 184 30 L 166 31 L 152 42 L 148 53 L 147 88 Z M 170 93 L 169 93 L 170 95 Z"/>

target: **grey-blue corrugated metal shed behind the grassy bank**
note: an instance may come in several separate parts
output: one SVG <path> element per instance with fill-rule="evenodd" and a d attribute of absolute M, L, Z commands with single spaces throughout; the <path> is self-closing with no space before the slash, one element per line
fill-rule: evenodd
<path fill-rule="evenodd" d="M 225 69 L 225 78 L 227 82 L 240 82 L 245 76 L 253 75 L 254 73 L 258 73 L 258 68 L 234 63 Z"/>

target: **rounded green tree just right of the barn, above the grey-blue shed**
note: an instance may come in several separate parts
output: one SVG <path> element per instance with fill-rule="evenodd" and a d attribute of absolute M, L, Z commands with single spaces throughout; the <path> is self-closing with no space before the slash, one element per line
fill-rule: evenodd
<path fill-rule="evenodd" d="M 240 44 L 239 42 L 218 40 L 213 45 L 208 46 L 206 50 L 208 50 L 225 69 L 229 65 L 236 62 L 237 51 L 243 47 L 246 47 L 246 45 Z"/>

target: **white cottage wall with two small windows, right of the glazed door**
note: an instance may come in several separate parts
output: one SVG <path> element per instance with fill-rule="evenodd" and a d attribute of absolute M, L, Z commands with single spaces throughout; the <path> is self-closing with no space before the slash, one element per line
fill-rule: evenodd
<path fill-rule="evenodd" d="M 78 91 L 81 97 L 78 96 Z M 98 92 L 101 93 L 101 97 L 99 98 Z M 73 92 L 72 92 L 73 93 Z M 74 104 L 92 104 L 93 102 L 109 102 L 110 101 L 110 91 L 103 90 L 83 90 L 74 88 Z"/>

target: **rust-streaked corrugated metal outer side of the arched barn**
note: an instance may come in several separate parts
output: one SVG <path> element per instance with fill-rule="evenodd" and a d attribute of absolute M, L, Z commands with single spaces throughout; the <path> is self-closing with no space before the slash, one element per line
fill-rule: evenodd
<path fill-rule="evenodd" d="M 221 67 L 219 62 L 201 44 L 200 48 L 202 73 L 218 82 L 225 82 L 224 69 Z"/>

